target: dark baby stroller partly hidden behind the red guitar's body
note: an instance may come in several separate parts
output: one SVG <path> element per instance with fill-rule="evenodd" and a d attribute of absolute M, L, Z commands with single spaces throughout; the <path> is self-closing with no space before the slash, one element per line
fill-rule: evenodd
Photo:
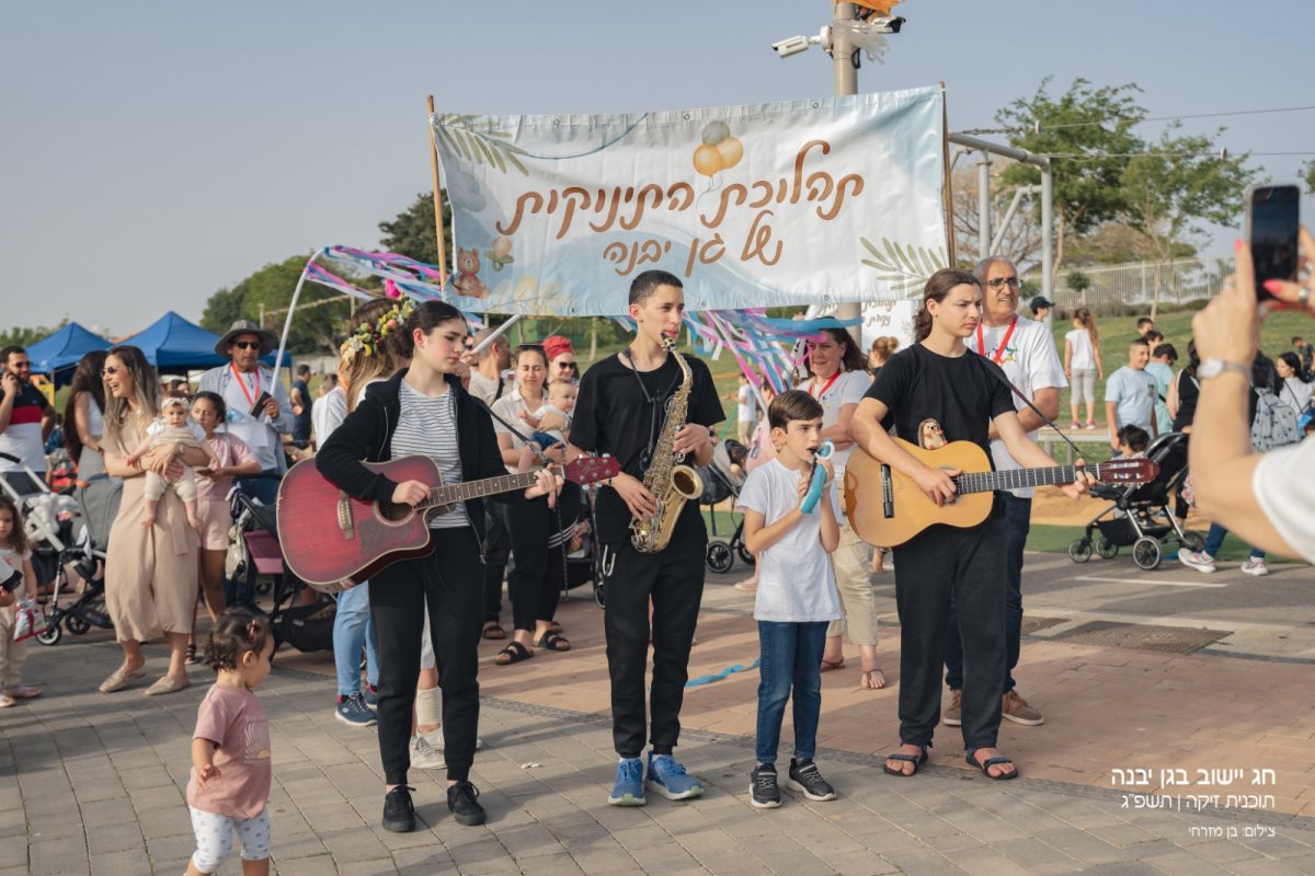
<path fill-rule="evenodd" d="M 277 475 L 256 475 L 276 478 Z M 271 607 L 266 612 L 274 633 L 274 650 L 284 642 L 299 651 L 333 650 L 333 621 L 338 603 L 333 596 L 317 591 L 310 604 L 296 604 L 297 594 L 306 587 L 283 566 L 279 548 L 279 524 L 274 506 L 262 504 L 254 496 L 234 486 L 229 494 L 234 524 L 229 535 L 229 582 L 225 599 L 230 605 L 255 608 L 258 580 L 271 580 Z"/>

